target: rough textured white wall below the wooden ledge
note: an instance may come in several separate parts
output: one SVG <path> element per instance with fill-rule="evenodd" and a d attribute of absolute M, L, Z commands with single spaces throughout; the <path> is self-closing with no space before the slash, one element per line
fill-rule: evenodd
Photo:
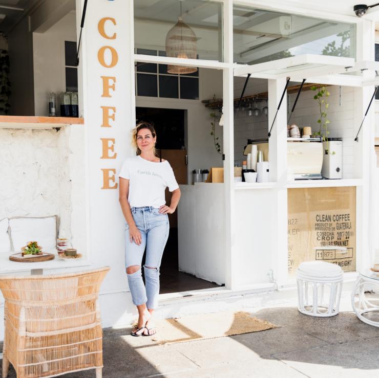
<path fill-rule="evenodd" d="M 0 219 L 58 215 L 59 236 L 71 238 L 69 134 L 0 129 Z"/>

